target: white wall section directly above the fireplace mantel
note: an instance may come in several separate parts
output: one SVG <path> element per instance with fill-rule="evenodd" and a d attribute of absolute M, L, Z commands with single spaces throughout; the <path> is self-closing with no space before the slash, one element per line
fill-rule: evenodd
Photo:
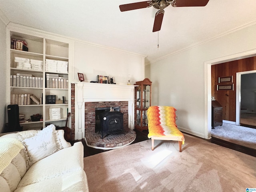
<path fill-rule="evenodd" d="M 128 74 L 132 84 L 144 79 L 144 56 L 114 50 L 85 42 L 75 42 L 74 80 L 83 73 L 85 81 L 96 81 L 97 75 L 114 77 L 116 84 L 127 84 Z"/>

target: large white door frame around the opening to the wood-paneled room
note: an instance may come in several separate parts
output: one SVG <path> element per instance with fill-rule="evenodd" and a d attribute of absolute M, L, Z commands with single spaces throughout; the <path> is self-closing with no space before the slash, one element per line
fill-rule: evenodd
<path fill-rule="evenodd" d="M 241 52 L 213 60 L 204 62 L 204 118 L 205 118 L 205 131 L 204 138 L 211 138 L 211 122 L 212 122 L 212 71 L 211 66 L 215 64 L 230 62 L 234 60 L 244 59 L 256 56 L 256 49 Z M 236 87 L 237 88 L 237 87 Z M 236 98 L 237 100 L 237 98 Z M 238 102 L 238 101 L 237 101 Z M 237 106 L 236 106 L 237 107 Z M 237 110 L 237 109 L 236 109 Z M 240 110 L 239 110 L 240 111 Z"/>

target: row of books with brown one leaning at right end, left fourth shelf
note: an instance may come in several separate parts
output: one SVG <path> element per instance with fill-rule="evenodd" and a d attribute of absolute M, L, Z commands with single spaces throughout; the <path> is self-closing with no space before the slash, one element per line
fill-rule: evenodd
<path fill-rule="evenodd" d="M 33 94 L 11 94 L 11 105 L 42 104 L 42 98 L 38 99 Z"/>

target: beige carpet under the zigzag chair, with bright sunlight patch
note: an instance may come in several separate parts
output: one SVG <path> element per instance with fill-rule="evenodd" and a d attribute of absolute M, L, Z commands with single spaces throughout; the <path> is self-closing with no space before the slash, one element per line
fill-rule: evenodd
<path fill-rule="evenodd" d="M 256 158 L 184 134 L 84 158 L 90 192 L 245 192 L 256 187 Z"/>

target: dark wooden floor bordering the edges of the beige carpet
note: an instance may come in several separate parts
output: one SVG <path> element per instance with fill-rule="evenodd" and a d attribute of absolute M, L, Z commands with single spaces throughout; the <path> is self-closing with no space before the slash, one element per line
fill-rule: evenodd
<path fill-rule="evenodd" d="M 136 139 L 134 140 L 134 142 L 132 142 L 132 144 L 148 140 L 148 130 L 144 130 L 143 132 L 140 132 L 138 130 L 134 130 L 134 131 L 136 132 Z M 194 135 L 191 135 L 191 136 L 194 136 Z M 197 138 L 200 138 L 200 137 L 197 137 Z M 202 138 L 200 138 L 200 139 L 202 139 Z M 214 137 L 212 137 L 209 140 L 207 140 L 207 139 L 204 139 L 204 140 L 256 157 L 256 150 L 248 148 L 248 147 L 240 146 L 240 145 L 230 143 L 230 142 L 227 142 L 227 141 L 224 141 L 224 140 L 221 140 L 218 138 L 214 138 Z M 88 146 L 86 146 L 86 143 L 84 140 L 82 140 L 82 142 L 84 144 L 84 157 L 108 151 L 108 150 L 95 149 L 95 148 L 88 147 Z"/>

